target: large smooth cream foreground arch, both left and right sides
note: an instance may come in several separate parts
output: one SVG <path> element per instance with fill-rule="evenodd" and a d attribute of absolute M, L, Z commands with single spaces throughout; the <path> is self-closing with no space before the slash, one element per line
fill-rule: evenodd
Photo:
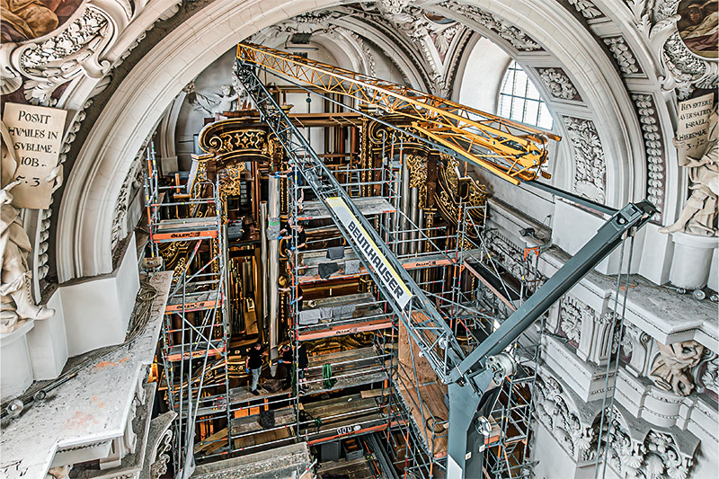
<path fill-rule="evenodd" d="M 262 28 L 333 1 L 219 0 L 168 33 L 125 77 L 85 140 L 69 175 L 58 215 L 60 281 L 110 272 L 114 202 L 142 143 L 182 87 L 227 49 Z M 559 4 L 539 0 L 473 4 L 526 31 L 571 72 L 597 118 L 608 151 L 608 204 L 644 197 L 641 133 L 614 66 L 590 33 Z M 471 22 L 447 11 L 466 24 Z M 220 19 L 219 21 L 217 19 Z M 475 25 L 476 27 L 476 25 Z M 478 27 L 476 30 L 480 30 Z M 640 146 L 637 146 L 640 145 Z M 628 161 L 626 161 L 628 159 Z"/>

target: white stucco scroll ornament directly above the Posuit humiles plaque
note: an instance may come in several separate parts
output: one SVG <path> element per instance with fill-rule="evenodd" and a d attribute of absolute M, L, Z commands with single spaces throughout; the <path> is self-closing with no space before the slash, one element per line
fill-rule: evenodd
<path fill-rule="evenodd" d="M 43 37 L 45 40 L 4 46 L 11 50 L 9 65 L 12 66 L 2 71 L 4 90 L 10 84 L 15 90 L 19 88 L 14 77 L 22 74 L 28 78 L 24 85 L 25 99 L 32 104 L 52 106 L 57 99 L 51 95 L 61 84 L 82 74 L 102 78 L 111 63 L 101 60 L 100 54 L 113 37 L 113 24 L 106 13 L 88 5 L 82 15 L 68 22 L 61 31 Z"/>

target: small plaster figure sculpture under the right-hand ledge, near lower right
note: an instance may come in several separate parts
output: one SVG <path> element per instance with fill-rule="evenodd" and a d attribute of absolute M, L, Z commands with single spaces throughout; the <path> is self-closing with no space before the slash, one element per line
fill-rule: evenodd
<path fill-rule="evenodd" d="M 673 344 L 657 342 L 660 356 L 654 360 L 650 377 L 654 384 L 677 395 L 686 396 L 694 389 L 688 369 L 699 364 L 704 346 L 698 342 L 684 341 Z"/>

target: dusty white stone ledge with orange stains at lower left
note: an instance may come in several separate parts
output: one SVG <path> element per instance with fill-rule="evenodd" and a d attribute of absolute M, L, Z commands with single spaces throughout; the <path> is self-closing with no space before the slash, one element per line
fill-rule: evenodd
<path fill-rule="evenodd" d="M 145 331 L 134 342 L 98 357 L 44 401 L 3 424 L 0 476 L 44 477 L 58 448 L 104 444 L 124 434 L 138 377 L 155 356 L 171 281 L 172 272 L 150 279 L 159 294 Z"/>

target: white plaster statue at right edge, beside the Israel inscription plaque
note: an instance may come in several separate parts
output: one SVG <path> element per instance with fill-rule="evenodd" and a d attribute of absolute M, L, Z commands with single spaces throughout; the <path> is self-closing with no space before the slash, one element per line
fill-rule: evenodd
<path fill-rule="evenodd" d="M 689 169 L 691 196 L 681 210 L 679 219 L 670 226 L 659 229 L 661 233 L 683 231 L 689 235 L 716 236 L 719 229 L 716 218 L 719 215 L 719 128 L 717 128 L 717 106 L 709 115 L 707 143 L 700 158 L 679 157 L 679 165 Z M 675 140 L 675 146 L 679 143 Z"/>

